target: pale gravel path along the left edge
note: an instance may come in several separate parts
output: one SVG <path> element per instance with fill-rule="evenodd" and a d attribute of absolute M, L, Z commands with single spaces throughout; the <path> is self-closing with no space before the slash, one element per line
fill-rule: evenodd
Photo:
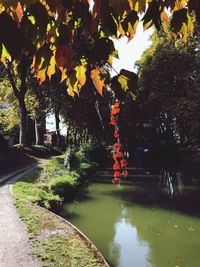
<path fill-rule="evenodd" d="M 30 170 L 29 170 L 30 171 Z M 25 172 L 24 172 L 25 173 Z M 23 174 L 24 174 L 23 173 Z M 24 223 L 20 220 L 10 191 L 10 183 L 0 186 L 0 266 L 39 267 L 40 262 L 31 257 L 31 246 Z"/>

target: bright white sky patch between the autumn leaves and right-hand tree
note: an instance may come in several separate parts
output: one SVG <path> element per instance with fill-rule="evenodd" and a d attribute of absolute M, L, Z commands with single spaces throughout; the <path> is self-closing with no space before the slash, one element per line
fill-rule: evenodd
<path fill-rule="evenodd" d="M 149 37 L 152 32 L 152 28 L 143 31 L 142 22 L 139 22 L 135 37 L 129 43 L 127 43 L 126 37 L 120 40 L 113 39 L 115 47 L 119 51 L 119 59 L 113 60 L 113 67 L 118 73 L 121 69 L 134 71 L 134 63 L 140 59 L 142 53 L 151 44 Z M 112 71 L 112 75 L 116 75 L 116 73 Z"/>

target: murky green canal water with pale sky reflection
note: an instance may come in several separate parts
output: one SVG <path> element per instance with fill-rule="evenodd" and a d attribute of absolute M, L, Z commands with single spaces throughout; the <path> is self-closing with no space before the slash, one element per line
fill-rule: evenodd
<path fill-rule="evenodd" d="M 169 188 L 169 186 L 168 186 Z M 92 183 L 64 216 L 116 267 L 199 267 L 200 190 Z"/>

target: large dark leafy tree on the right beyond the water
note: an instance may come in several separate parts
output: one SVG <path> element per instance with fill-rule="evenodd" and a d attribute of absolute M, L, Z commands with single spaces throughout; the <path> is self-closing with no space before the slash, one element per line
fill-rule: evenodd
<path fill-rule="evenodd" d="M 143 120 L 157 128 L 163 144 L 199 140 L 199 29 L 187 46 L 169 30 L 155 32 L 137 66 Z"/>

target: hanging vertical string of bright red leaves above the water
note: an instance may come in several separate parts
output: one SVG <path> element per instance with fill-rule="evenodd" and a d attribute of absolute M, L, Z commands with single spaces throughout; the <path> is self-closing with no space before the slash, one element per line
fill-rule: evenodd
<path fill-rule="evenodd" d="M 122 150 L 122 146 L 120 143 L 120 131 L 118 127 L 118 115 L 120 112 L 120 103 L 119 101 L 115 101 L 114 105 L 111 108 L 110 115 L 110 124 L 114 126 L 114 137 L 116 138 L 116 143 L 113 145 L 113 160 L 115 161 L 113 164 L 114 178 L 112 182 L 114 184 L 118 184 L 120 182 L 121 177 L 126 177 L 128 175 L 127 165 L 128 162 L 125 159 L 124 151 Z"/>

